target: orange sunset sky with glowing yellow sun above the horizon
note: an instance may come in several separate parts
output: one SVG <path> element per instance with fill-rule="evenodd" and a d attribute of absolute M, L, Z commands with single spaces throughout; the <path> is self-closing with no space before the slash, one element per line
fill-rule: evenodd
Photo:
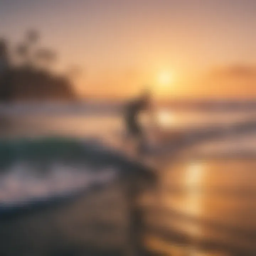
<path fill-rule="evenodd" d="M 1 0 L 0 37 L 36 28 L 80 95 L 256 96 L 254 0 Z"/>

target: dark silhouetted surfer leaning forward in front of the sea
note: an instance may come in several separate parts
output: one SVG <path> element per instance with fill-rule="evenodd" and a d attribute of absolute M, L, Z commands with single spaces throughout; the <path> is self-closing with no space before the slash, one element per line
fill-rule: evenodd
<path fill-rule="evenodd" d="M 142 154 L 146 149 L 146 138 L 139 122 L 139 114 L 149 109 L 151 105 L 151 94 L 149 90 L 145 90 L 140 97 L 128 102 L 124 119 L 128 138 L 134 139 L 137 143 L 137 153 Z"/>

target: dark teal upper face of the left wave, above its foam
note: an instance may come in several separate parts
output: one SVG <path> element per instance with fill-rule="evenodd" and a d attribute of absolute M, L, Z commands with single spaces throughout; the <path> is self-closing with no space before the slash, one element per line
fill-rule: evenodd
<path fill-rule="evenodd" d="M 111 152 L 92 140 L 69 137 L 0 139 L 0 170 L 14 161 L 90 161 L 98 165 L 98 160 L 107 160 L 106 154 Z"/>

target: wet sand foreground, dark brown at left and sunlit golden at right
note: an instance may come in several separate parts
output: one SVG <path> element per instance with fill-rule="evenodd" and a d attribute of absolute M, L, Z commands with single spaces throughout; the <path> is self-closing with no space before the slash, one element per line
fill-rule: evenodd
<path fill-rule="evenodd" d="M 157 187 L 132 195 L 140 246 L 152 255 L 255 255 L 255 167 L 254 160 L 184 161 L 161 170 Z M 130 184 L 1 219 L 0 255 L 126 255 Z"/>

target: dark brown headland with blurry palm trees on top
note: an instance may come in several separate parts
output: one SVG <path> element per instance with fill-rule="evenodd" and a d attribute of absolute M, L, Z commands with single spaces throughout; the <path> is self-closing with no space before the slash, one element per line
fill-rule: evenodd
<path fill-rule="evenodd" d="M 57 54 L 38 47 L 39 34 L 28 31 L 14 49 L 0 39 L 0 101 L 74 101 L 74 86 L 66 74 L 52 70 Z"/>

